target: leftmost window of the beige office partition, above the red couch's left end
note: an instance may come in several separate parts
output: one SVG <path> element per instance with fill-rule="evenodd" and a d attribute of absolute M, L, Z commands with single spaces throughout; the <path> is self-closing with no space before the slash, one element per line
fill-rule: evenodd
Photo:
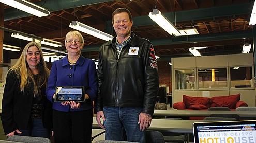
<path fill-rule="evenodd" d="M 180 69 L 175 70 L 176 76 L 176 90 L 181 89 L 194 89 L 195 85 L 195 73 L 194 69 Z"/>

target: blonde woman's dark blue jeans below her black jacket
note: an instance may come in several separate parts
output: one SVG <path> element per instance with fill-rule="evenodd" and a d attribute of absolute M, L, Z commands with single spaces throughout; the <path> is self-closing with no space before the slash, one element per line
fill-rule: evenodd
<path fill-rule="evenodd" d="M 50 131 L 43 127 L 42 119 L 31 119 L 31 129 L 21 131 L 21 134 L 16 133 L 16 135 L 20 136 L 34 136 L 34 137 L 50 137 Z"/>

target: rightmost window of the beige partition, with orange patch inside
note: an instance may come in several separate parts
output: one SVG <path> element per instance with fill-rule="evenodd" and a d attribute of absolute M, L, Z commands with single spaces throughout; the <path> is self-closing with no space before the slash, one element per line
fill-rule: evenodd
<path fill-rule="evenodd" d="M 252 67 L 231 67 L 230 84 L 231 88 L 252 88 Z"/>

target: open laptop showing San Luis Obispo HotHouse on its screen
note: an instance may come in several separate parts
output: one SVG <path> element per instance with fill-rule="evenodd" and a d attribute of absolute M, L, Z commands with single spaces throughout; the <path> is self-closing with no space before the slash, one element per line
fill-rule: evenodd
<path fill-rule="evenodd" d="M 256 120 L 193 123 L 195 143 L 256 142 Z"/>

